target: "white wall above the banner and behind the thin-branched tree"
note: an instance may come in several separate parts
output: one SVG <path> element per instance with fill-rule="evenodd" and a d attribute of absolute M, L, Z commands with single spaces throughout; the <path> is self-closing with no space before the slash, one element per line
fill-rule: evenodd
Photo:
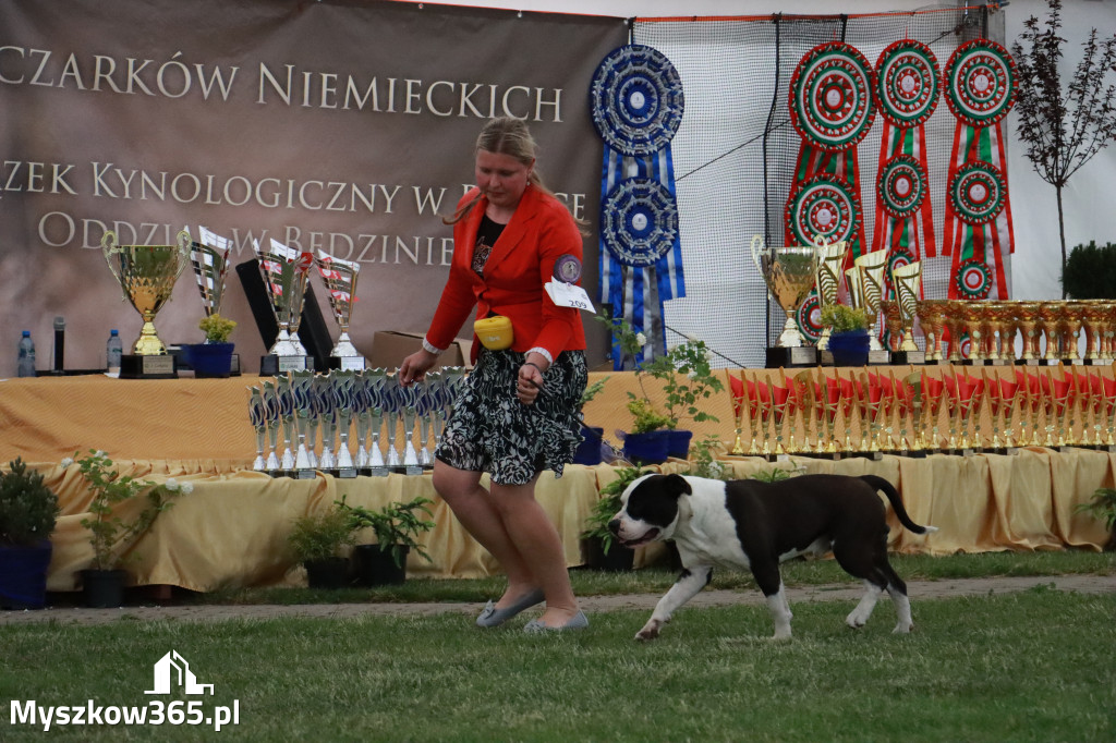
<path fill-rule="evenodd" d="M 459 0 L 454 4 L 482 6 L 525 11 L 569 12 L 597 16 L 762 16 L 773 12 L 810 15 L 912 11 L 930 7 L 953 7 L 954 2 L 926 3 L 920 0 Z M 1003 9 L 1007 46 L 1019 37 L 1030 16 L 1043 19 L 1045 0 L 1011 0 Z M 1065 0 L 1061 36 L 1064 80 L 1080 60 L 1080 45 L 1090 28 L 1101 35 L 1116 29 L 1116 0 Z M 1116 75 L 1109 75 L 1116 84 Z M 1058 209 L 1054 186 L 1042 181 L 1016 137 L 1018 117 L 1008 119 L 1008 183 L 1014 216 L 1016 254 L 1012 261 L 1013 298 L 1049 299 L 1061 296 Z M 1086 164 L 1064 192 L 1066 245 L 1096 240 L 1116 242 L 1116 143 Z"/>

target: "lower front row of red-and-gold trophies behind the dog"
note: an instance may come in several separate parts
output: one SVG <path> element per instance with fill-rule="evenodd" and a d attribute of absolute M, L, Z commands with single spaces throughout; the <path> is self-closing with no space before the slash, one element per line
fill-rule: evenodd
<path fill-rule="evenodd" d="M 961 374 L 949 367 L 941 376 L 925 369 L 898 376 L 894 369 L 730 373 L 731 453 L 775 460 L 1011 453 L 1020 446 L 1116 451 L 1116 379 L 1100 370 L 1062 365 L 1057 374 L 1048 367 L 999 376 L 959 368 Z"/>

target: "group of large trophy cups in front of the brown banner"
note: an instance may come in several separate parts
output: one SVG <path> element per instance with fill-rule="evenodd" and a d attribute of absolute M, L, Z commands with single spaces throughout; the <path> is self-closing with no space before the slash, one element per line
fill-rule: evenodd
<path fill-rule="evenodd" d="M 278 326 L 278 335 L 268 355 L 261 359 L 260 373 L 276 375 L 312 369 L 314 363 L 298 337 L 307 282 L 311 268 L 317 268 L 329 299 L 340 335 L 330 350 L 330 366 L 340 369 L 364 369 L 365 359 L 348 335 L 349 318 L 356 298 L 359 264 L 331 257 L 319 250 L 317 255 L 285 245 L 276 240 L 268 248 L 252 241 L 257 264 L 268 301 Z M 140 337 L 121 363 L 123 378 L 173 378 L 174 357 L 155 330 L 155 316 L 171 299 L 174 284 L 185 267 L 193 264 L 206 317 L 220 313 L 225 276 L 232 243 L 227 238 L 200 228 L 194 241 L 187 230 L 176 235 L 174 245 L 122 245 L 116 234 L 105 232 L 102 252 L 116 278 L 124 299 L 143 319 Z"/>

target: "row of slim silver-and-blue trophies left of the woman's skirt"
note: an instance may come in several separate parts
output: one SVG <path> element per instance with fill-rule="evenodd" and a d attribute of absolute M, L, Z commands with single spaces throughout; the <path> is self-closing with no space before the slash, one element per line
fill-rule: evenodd
<path fill-rule="evenodd" d="M 338 477 L 422 474 L 434 465 L 432 451 L 463 379 L 461 367 L 407 386 L 384 368 L 277 375 L 248 388 L 252 469 L 297 479 L 318 470 Z"/>

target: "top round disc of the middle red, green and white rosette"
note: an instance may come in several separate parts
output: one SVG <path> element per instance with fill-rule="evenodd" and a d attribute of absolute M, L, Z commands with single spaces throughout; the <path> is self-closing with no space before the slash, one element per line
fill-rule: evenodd
<path fill-rule="evenodd" d="M 940 100 L 937 57 L 930 47 L 901 39 L 876 60 L 879 115 L 893 126 L 922 126 Z"/>

